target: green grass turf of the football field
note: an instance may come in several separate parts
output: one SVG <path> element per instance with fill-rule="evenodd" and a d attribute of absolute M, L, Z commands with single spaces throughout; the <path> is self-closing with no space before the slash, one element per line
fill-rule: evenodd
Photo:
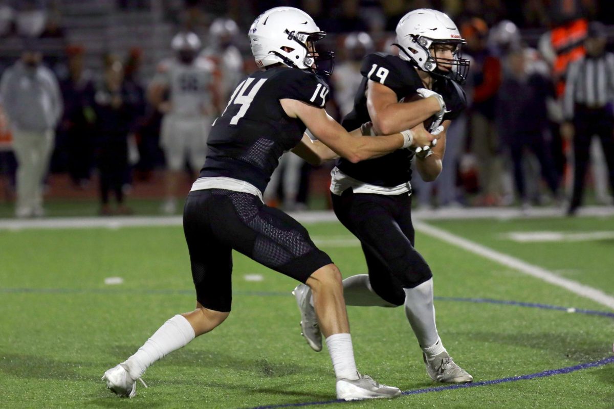
<path fill-rule="evenodd" d="M 527 262 L 577 270 L 573 279 L 609 294 L 614 292 L 611 242 L 572 243 L 573 248 L 566 247 L 568 243 L 544 243 L 535 255 L 528 248 L 535 248 L 535 243 L 520 245 L 501 239 L 501 234 L 545 230 L 545 226 L 550 231 L 614 230 L 613 224 L 589 218 L 437 222 L 438 227 Z M 338 223 L 307 226 L 314 239 L 349 237 Z M 417 240 L 435 274 L 436 296 L 605 310 L 426 235 L 418 234 Z M 104 389 L 100 381 L 104 370 L 133 353 L 166 319 L 194 304 L 181 228 L 0 231 L 0 248 L 0 407 L 252 408 L 335 399 L 327 352 L 314 353 L 299 335 L 298 310 L 290 296 L 295 282 L 240 254 L 235 254 L 230 318 L 150 367 L 144 377 L 150 388 L 138 384 L 136 398 L 126 400 Z M 358 246 L 322 248 L 344 275 L 365 272 Z M 244 275 L 254 273 L 264 280 L 244 280 Z M 122 277 L 124 283 L 104 285 L 104 278 L 113 276 Z M 435 305 L 446 348 L 476 381 L 612 355 L 610 318 L 449 300 L 437 300 Z M 402 308 L 349 307 L 348 312 L 363 373 L 403 391 L 439 386 L 426 375 Z M 610 408 L 613 402 L 614 365 L 610 364 L 537 380 L 349 405 Z"/>

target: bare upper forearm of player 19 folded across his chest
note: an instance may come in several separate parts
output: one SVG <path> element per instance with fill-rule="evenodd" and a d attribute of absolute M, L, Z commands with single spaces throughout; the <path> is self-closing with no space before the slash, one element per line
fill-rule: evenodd
<path fill-rule="evenodd" d="M 437 99 L 429 97 L 414 102 L 390 104 L 386 107 L 374 107 L 367 104 L 375 129 L 382 134 L 411 129 L 439 112 Z"/>

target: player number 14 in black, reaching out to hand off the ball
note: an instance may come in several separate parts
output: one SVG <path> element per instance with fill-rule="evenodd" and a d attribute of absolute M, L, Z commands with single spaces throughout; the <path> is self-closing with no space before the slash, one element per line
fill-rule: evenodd
<path fill-rule="evenodd" d="M 107 388 L 132 397 L 149 365 L 221 324 L 231 307 L 231 250 L 284 273 L 313 291 L 326 337 L 338 399 L 394 397 L 356 370 L 341 273 L 296 220 L 262 202 L 278 159 L 292 150 L 308 160 L 335 155 L 358 162 L 399 148 L 426 146 L 433 135 L 416 127 L 391 136 L 348 132 L 323 109 L 328 86 L 319 77 L 331 55 L 315 52 L 325 36 L 305 12 L 277 7 L 251 26 L 252 53 L 263 71 L 241 82 L 208 139 L 208 155 L 184 207 L 184 232 L 196 288 L 196 310 L 169 319 L 125 362 L 104 373 Z M 330 71 L 328 71 L 330 72 Z M 308 128 L 321 142 L 304 135 Z M 324 145 L 328 145 L 332 150 Z M 311 298 L 311 297 L 310 297 Z M 313 308 L 311 310 L 313 312 Z M 307 318 L 304 318 L 307 319 Z"/>

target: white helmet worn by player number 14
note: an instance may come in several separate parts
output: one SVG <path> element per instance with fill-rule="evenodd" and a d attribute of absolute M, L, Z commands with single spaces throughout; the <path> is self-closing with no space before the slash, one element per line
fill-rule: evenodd
<path fill-rule="evenodd" d="M 314 43 L 325 36 L 326 32 L 318 28 L 313 18 L 294 7 L 266 10 L 249 28 L 249 42 L 258 67 L 282 63 L 330 75 L 335 54 L 316 53 L 314 49 Z"/>

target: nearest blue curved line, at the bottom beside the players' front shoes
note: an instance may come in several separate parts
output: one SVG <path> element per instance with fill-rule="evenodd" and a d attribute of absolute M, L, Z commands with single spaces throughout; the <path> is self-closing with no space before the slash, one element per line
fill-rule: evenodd
<path fill-rule="evenodd" d="M 449 391 L 452 389 L 476 388 L 477 386 L 489 386 L 489 385 L 495 385 L 499 383 L 531 380 L 535 378 L 546 378 L 546 377 L 551 377 L 553 375 L 561 375 L 563 373 L 571 373 L 571 372 L 576 372 L 578 370 L 596 368 L 596 367 L 613 364 L 613 363 L 614 363 L 614 356 L 610 356 L 604 359 L 600 359 L 599 361 L 586 362 L 585 364 L 578 364 L 578 365 L 573 365 L 571 367 L 565 367 L 565 368 L 560 368 L 560 369 L 549 369 L 543 372 L 530 373 L 529 375 L 518 375 L 516 377 L 494 379 L 491 381 L 480 381 L 480 382 L 473 382 L 473 383 L 458 383 L 458 384 L 453 384 L 453 385 L 437 386 L 435 388 L 414 389 L 413 391 L 403 392 L 403 395 L 418 395 L 418 394 L 425 394 L 425 393 L 430 393 L 430 392 Z M 258 406 L 258 407 L 254 407 L 251 409 L 292 408 L 292 407 L 303 407 L 303 406 L 329 405 L 331 403 L 348 403 L 348 402 L 346 402 L 345 400 L 325 400 L 322 402 L 281 403 L 279 405 Z"/>

